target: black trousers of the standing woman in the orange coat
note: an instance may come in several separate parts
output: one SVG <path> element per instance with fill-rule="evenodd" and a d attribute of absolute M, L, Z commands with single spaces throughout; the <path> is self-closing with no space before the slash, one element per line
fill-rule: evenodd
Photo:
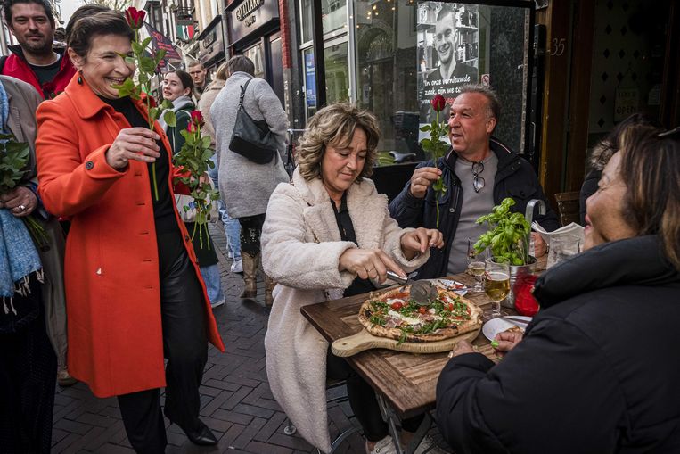
<path fill-rule="evenodd" d="M 165 415 L 184 430 L 201 427 L 199 386 L 208 360 L 203 293 L 179 233 L 160 234 L 160 313 L 163 326 Z M 168 444 L 160 389 L 118 396 L 127 438 L 136 452 L 156 454 Z"/>

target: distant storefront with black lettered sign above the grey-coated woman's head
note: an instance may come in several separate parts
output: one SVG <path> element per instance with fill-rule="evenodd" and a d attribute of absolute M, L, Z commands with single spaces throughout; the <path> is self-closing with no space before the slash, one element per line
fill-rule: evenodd
<path fill-rule="evenodd" d="M 282 39 L 277 0 L 236 0 L 226 9 L 230 55 L 255 63 L 255 76 L 266 79 L 284 103 Z"/>

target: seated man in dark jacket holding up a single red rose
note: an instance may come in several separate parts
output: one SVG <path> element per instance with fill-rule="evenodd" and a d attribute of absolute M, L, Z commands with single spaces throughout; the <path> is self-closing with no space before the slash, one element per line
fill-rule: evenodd
<path fill-rule="evenodd" d="M 451 105 L 448 120 L 452 148 L 438 161 L 423 162 L 404 190 L 389 204 L 389 213 L 400 227 L 437 227 L 435 194 L 430 187 L 443 178 L 447 191 L 439 198 L 439 226 L 443 249 L 432 249 L 430 260 L 419 269 L 419 278 L 442 277 L 467 268 L 468 238 L 477 241 L 487 231 L 475 221 L 491 212 L 505 197 L 523 213 L 531 199 L 545 202 L 546 213 L 537 217 L 545 230 L 560 224 L 545 200 L 543 189 L 528 161 L 520 158 L 491 134 L 496 128 L 500 105 L 487 87 L 469 85 Z M 536 255 L 545 253 L 545 243 L 534 235 Z"/>

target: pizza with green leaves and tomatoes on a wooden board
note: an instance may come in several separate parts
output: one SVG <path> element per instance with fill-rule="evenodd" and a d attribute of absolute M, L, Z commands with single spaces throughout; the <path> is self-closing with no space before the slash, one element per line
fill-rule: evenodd
<path fill-rule="evenodd" d="M 359 322 L 370 334 L 399 343 L 443 341 L 479 329 L 482 310 L 476 304 L 452 290 L 437 290 L 427 305 L 410 299 L 410 285 L 371 293 L 359 310 Z"/>

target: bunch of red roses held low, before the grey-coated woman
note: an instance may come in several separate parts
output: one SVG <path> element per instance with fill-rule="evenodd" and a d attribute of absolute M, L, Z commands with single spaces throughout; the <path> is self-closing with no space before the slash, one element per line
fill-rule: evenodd
<path fill-rule="evenodd" d="M 192 239 L 199 233 L 199 243 L 203 249 L 203 234 L 206 235 L 206 244 L 210 248 L 208 221 L 212 203 L 219 199 L 219 192 L 209 184 L 206 173 L 208 169 L 215 167 L 210 157 L 213 150 L 210 148 L 210 137 L 201 137 L 201 126 L 203 126 L 203 115 L 201 111 L 192 111 L 192 120 L 180 134 L 184 137 L 184 144 L 179 153 L 176 153 L 173 161 L 175 165 L 184 170 L 182 177 L 176 177 L 175 181 L 184 183 L 189 187 L 193 203 L 196 209 L 196 220 L 193 225 Z M 184 211 L 189 207 L 184 206 Z"/>

